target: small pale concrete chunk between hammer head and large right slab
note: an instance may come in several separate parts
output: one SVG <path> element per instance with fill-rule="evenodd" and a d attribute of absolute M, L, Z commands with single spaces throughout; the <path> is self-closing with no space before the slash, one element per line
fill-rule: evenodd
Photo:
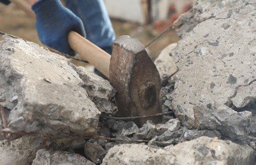
<path fill-rule="evenodd" d="M 176 43 L 169 44 L 169 46 L 166 46 L 166 48 L 161 51 L 157 59 L 155 59 L 154 63 L 157 67 L 157 70 L 159 71 L 162 82 L 177 71 L 176 64 L 173 62 L 173 58 L 169 54 L 169 52 L 171 52 L 171 50 L 176 46 Z"/>

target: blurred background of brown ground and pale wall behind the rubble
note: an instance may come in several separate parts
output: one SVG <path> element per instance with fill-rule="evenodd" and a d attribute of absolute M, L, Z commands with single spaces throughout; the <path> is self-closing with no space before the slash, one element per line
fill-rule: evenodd
<path fill-rule="evenodd" d="M 194 0 L 104 0 L 104 2 L 117 37 L 128 35 L 147 44 L 171 25 L 179 15 L 190 10 Z M 35 20 L 14 4 L 4 6 L 0 3 L 0 31 L 41 44 L 34 23 Z M 148 46 L 146 51 L 150 58 L 155 60 L 163 48 L 178 40 L 174 30 L 170 30 Z"/>

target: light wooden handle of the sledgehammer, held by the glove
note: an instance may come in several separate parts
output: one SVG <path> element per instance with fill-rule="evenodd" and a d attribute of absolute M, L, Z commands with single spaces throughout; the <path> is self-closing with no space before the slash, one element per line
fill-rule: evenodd
<path fill-rule="evenodd" d="M 31 10 L 31 6 L 27 2 L 22 0 L 10 1 L 17 4 L 17 6 L 31 17 L 36 18 L 34 12 Z M 69 32 L 68 42 L 69 46 L 76 51 L 83 60 L 94 65 L 99 72 L 109 78 L 111 56 L 108 53 L 74 31 Z"/>

